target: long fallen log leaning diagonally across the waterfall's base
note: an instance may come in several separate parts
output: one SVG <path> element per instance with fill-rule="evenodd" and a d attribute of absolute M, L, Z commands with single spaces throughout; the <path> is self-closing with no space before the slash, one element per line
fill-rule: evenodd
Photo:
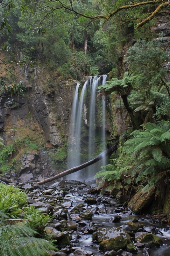
<path fill-rule="evenodd" d="M 96 162 L 98 162 L 99 160 L 101 160 L 103 157 L 110 155 L 113 151 L 116 150 L 116 148 L 117 148 L 116 145 L 109 146 L 106 150 L 104 150 L 101 154 L 99 154 L 98 156 L 96 156 L 96 157 L 93 158 L 92 160 L 90 160 L 90 161 L 88 161 L 88 162 L 86 162 L 86 163 L 84 163 L 84 164 L 80 164 L 80 165 L 78 165 L 78 166 L 75 166 L 75 167 L 73 167 L 73 168 L 70 168 L 70 169 L 68 169 L 68 170 L 66 170 L 66 171 L 64 171 L 64 172 L 59 173 L 59 174 L 56 174 L 56 175 L 53 176 L 53 177 L 50 177 L 50 178 L 47 178 L 47 179 L 45 179 L 45 180 L 39 181 L 39 182 L 37 182 L 37 184 L 44 184 L 44 183 L 46 183 L 46 182 L 49 182 L 49 181 L 52 181 L 52 180 L 56 180 L 56 179 L 62 178 L 62 177 L 64 177 L 64 176 L 68 175 L 68 174 L 71 174 L 71 173 L 73 173 L 73 172 L 77 172 L 77 171 L 79 171 L 79 170 L 81 170 L 81 169 L 83 169 L 83 168 L 86 168 L 86 167 L 88 167 L 88 166 L 91 165 L 91 164 L 95 164 Z"/>

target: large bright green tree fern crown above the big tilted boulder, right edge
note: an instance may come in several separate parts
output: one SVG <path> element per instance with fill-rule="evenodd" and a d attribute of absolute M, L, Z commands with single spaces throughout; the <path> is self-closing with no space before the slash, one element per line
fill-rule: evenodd
<path fill-rule="evenodd" d="M 136 182 L 141 181 L 145 184 L 143 192 L 146 192 L 153 186 L 158 186 L 161 179 L 165 182 L 169 177 L 170 122 L 147 123 L 142 126 L 145 130 L 132 132 L 134 138 L 127 140 L 125 145 L 136 159 L 132 176 L 137 176 Z M 144 177 L 147 177 L 148 183 L 145 179 L 143 181 Z"/>

